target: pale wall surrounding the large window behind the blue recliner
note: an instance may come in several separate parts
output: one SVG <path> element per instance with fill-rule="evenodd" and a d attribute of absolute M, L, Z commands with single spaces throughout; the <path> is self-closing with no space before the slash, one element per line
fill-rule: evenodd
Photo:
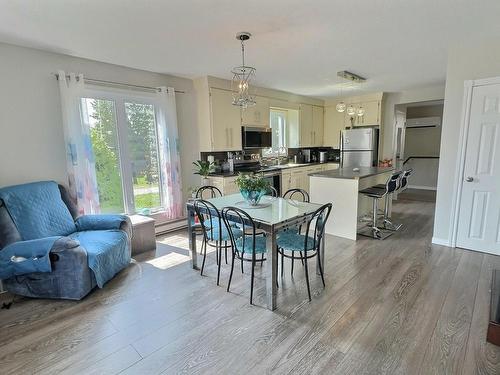
<path fill-rule="evenodd" d="M 176 96 L 184 191 L 198 184 L 191 168 L 199 157 L 192 80 L 0 43 L 0 187 L 49 179 L 66 184 L 59 90 L 52 74 L 59 69 L 185 91 Z"/>

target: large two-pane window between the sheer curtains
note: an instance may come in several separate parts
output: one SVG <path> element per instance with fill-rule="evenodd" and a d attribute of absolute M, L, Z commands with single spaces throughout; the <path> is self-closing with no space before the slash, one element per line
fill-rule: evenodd
<path fill-rule="evenodd" d="M 81 109 L 90 128 L 101 212 L 162 210 L 154 101 L 96 95 L 82 98 Z"/>

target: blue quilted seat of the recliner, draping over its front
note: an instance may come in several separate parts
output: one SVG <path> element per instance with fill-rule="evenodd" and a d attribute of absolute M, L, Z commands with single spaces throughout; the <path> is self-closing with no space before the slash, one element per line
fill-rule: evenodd
<path fill-rule="evenodd" d="M 99 288 L 130 263 L 130 238 L 122 230 L 89 230 L 69 237 L 87 251 L 88 265 Z"/>

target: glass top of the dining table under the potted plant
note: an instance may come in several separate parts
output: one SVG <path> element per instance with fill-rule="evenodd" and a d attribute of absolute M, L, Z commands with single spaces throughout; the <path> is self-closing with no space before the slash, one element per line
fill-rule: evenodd
<path fill-rule="evenodd" d="M 238 207 L 247 212 L 255 221 L 271 225 L 311 214 L 321 207 L 320 204 L 316 203 L 305 203 L 290 199 L 264 196 L 260 201 L 261 207 L 248 208 L 246 202 L 239 193 L 207 200 L 218 210 L 222 210 L 227 206 Z"/>

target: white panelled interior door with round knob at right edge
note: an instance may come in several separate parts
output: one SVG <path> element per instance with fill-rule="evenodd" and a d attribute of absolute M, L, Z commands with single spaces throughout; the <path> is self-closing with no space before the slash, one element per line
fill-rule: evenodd
<path fill-rule="evenodd" d="M 457 247 L 500 255 L 500 84 L 472 89 Z"/>

